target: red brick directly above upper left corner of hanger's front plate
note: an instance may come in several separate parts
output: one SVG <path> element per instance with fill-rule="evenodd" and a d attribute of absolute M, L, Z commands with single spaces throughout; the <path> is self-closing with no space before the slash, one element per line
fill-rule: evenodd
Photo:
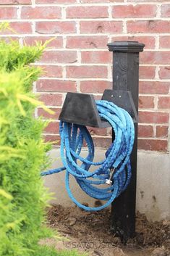
<path fill-rule="evenodd" d="M 67 92 L 77 91 L 75 81 L 41 79 L 37 82 L 37 91 Z"/>

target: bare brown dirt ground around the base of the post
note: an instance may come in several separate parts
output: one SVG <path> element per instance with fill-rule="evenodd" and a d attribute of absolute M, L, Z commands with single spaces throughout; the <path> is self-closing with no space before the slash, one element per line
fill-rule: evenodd
<path fill-rule="evenodd" d="M 170 222 L 151 223 L 137 212 L 136 236 L 124 246 L 111 234 L 111 210 L 86 212 L 55 205 L 48 210 L 48 225 L 66 238 L 46 241 L 56 249 L 77 249 L 90 256 L 170 256 Z"/>

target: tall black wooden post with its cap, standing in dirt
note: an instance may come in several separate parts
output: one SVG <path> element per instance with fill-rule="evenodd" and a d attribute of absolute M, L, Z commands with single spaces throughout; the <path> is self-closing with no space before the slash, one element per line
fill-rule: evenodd
<path fill-rule="evenodd" d="M 138 113 L 139 52 L 143 51 L 145 44 L 137 41 L 116 41 L 108 46 L 109 51 L 114 53 L 113 88 L 130 91 Z M 111 205 L 111 230 L 119 235 L 124 243 L 135 234 L 137 123 L 131 165 L 132 178 L 129 186 Z"/>

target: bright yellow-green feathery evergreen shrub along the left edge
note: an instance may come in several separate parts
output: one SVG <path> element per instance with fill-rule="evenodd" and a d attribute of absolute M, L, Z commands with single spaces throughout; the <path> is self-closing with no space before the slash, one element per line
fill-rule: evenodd
<path fill-rule="evenodd" d="M 48 196 L 40 176 L 48 144 L 41 133 L 46 123 L 35 120 L 40 105 L 31 92 L 40 74 L 30 66 L 44 46 L 20 47 L 0 41 L 0 255 L 36 255 L 38 241 L 51 236 L 45 226 Z"/>

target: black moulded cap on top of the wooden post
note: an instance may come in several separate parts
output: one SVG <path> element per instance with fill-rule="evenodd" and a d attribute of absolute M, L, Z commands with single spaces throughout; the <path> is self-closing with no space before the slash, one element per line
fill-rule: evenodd
<path fill-rule="evenodd" d="M 120 52 L 140 52 L 143 51 L 145 44 L 137 41 L 115 41 L 107 44 L 109 51 L 120 51 Z"/>

